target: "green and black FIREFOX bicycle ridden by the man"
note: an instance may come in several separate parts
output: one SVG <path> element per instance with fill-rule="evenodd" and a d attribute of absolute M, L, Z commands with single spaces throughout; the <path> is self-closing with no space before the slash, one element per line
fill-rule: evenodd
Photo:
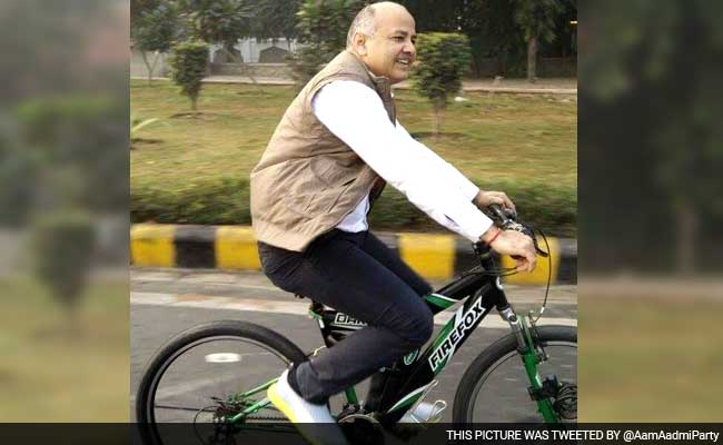
<path fill-rule="evenodd" d="M 497 206 L 491 206 L 487 212 L 503 229 L 532 236 L 538 254 L 547 256 L 539 249 L 534 231 L 518 222 L 514 212 Z M 397 385 L 385 388 L 374 412 L 365 411 L 355 388 L 350 387 L 344 393 L 345 404 L 335 416 L 337 422 L 394 424 L 405 413 L 412 422 L 439 421 L 446 403 L 425 405 L 423 400 L 437 384 L 435 377 L 493 308 L 507 322 L 512 333 L 482 350 L 464 373 L 454 398 L 453 422 L 509 421 L 491 419 L 492 412 L 484 412 L 489 405 L 483 393 L 485 388 L 495 390 L 496 398 L 502 395 L 515 413 L 519 414 L 521 407 L 526 409 L 514 421 L 576 421 L 577 330 L 570 326 L 535 324 L 546 306 L 549 276 L 537 318 L 532 312 L 529 316 L 517 315 L 507 301 L 499 278 L 511 270 L 496 268 L 488 247 L 476 244 L 474 249 L 479 266 L 425 297 L 435 316 L 457 303 L 464 304 L 425 350 L 417 349 L 383 369 Z M 321 347 L 333 347 L 365 326 L 315 301 L 309 306 L 309 315 L 319 326 L 325 342 Z M 239 429 L 283 429 L 278 423 L 286 419 L 270 404 L 266 389 L 290 363 L 306 360 L 319 349 L 304 353 L 271 329 L 238 320 L 206 323 L 178 334 L 150 359 L 138 388 L 136 416 L 143 424 L 143 438 L 147 443 L 162 443 L 157 425 L 179 421 L 209 423 L 214 425 L 209 432 L 216 438 Z M 246 366 L 249 362 L 251 367 Z M 543 378 L 543 370 L 554 373 Z M 523 378 L 526 383 L 521 384 Z M 499 409 L 495 406 L 495 412 Z"/>

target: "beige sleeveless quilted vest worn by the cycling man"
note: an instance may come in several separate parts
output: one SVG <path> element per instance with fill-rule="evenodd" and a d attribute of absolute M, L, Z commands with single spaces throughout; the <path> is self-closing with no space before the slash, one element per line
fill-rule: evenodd
<path fill-rule="evenodd" d="M 259 241 L 303 251 L 370 191 L 372 198 L 382 191 L 376 172 L 314 116 L 314 95 L 335 80 L 373 88 L 396 121 L 389 79 L 374 76 L 351 52 L 334 58 L 294 99 L 251 171 L 251 219 Z"/>

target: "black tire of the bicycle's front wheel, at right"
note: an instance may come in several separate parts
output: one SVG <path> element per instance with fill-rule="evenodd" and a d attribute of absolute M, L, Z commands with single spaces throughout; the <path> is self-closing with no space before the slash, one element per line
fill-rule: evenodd
<path fill-rule="evenodd" d="M 574 344 L 577 347 L 577 328 L 572 326 L 538 326 L 537 334 L 543 346 L 549 344 Z M 488 373 L 498 364 L 517 355 L 517 338 L 508 334 L 483 350 L 465 372 L 455 393 L 452 418 L 454 423 L 474 423 L 473 411 L 477 394 Z M 525 377 L 526 380 L 526 377 Z M 528 382 L 527 384 L 528 385 Z M 531 404 L 534 404 L 528 399 Z M 477 421 L 481 422 L 481 421 Z M 542 422 L 542 421 L 541 421 Z"/>

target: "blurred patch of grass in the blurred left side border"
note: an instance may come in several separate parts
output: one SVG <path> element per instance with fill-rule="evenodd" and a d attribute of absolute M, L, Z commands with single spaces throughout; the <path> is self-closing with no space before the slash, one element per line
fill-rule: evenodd
<path fill-rule="evenodd" d="M 0 421 L 128 422 L 128 286 L 91 285 L 75 324 L 33 280 L 0 286 Z"/>

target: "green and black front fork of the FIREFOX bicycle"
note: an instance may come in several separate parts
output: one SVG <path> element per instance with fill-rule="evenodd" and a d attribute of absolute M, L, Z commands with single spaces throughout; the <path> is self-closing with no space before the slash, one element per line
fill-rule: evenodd
<path fill-rule="evenodd" d="M 531 384 L 527 388 L 529 397 L 537 403 L 537 409 L 546 423 L 558 423 L 559 418 L 551 400 L 551 397 L 557 389 L 556 382 L 549 379 L 543 382 L 537 370 L 537 364 L 548 358 L 545 349 L 543 349 L 542 345 L 536 345 L 533 340 L 526 317 L 517 316 L 509 305 L 499 309 L 499 315 L 509 324 L 512 332 L 517 338 L 517 352 L 525 366 L 525 374 L 527 374 Z"/>

